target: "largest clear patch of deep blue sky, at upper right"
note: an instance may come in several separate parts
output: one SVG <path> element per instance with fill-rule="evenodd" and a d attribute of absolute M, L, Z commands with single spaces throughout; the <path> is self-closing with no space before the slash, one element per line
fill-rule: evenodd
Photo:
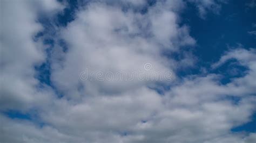
<path fill-rule="evenodd" d="M 249 8 L 250 1 L 230 1 L 223 4 L 219 15 L 208 12 L 205 19 L 198 17 L 195 6 L 188 3 L 181 18 L 190 26 L 191 36 L 197 40 L 193 53 L 199 61 L 215 62 L 228 47 L 252 48 L 256 45 L 256 35 L 248 31 L 256 30 L 256 9 Z"/>

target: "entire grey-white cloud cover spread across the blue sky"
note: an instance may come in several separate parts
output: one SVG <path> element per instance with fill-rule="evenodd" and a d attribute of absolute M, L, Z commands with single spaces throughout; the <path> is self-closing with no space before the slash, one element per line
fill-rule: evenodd
<path fill-rule="evenodd" d="M 37 111 L 37 119 L 11 119 L 0 115 L 0 142 L 246 142 L 256 134 L 231 133 L 250 121 L 255 111 L 256 51 L 227 51 L 213 69 L 235 59 L 248 68 L 245 76 L 221 84 L 221 75 L 176 77 L 179 68 L 193 67 L 193 56 L 177 61 L 163 51 L 181 52 L 196 41 L 189 27 L 180 25 L 183 1 L 159 1 L 147 13 L 122 11 L 120 4 L 142 6 L 143 1 L 91 2 L 79 8 L 75 20 L 56 29 L 68 52 L 52 50 L 51 81 L 41 85 L 34 66 L 45 62 L 43 30 L 38 13 L 54 15 L 64 5 L 55 1 L 1 1 L 0 110 Z M 207 10 L 217 1 L 190 1 Z M 31 4 L 32 3 L 32 4 Z M 42 6 L 43 5 L 43 6 Z M 35 9 L 39 7 L 39 9 Z M 212 7 L 211 7 L 212 8 Z M 200 12 L 200 11 L 199 11 Z M 205 15 L 204 13 L 202 16 Z M 22 25 L 22 26 L 21 26 Z M 59 60 L 63 59 L 63 60 Z M 186 61 L 186 62 L 184 62 Z M 189 62 L 188 62 L 189 61 Z M 154 71 L 171 71 L 173 81 L 82 81 L 90 71 L 132 73 L 151 63 Z M 174 78 L 176 77 L 176 78 Z M 160 95 L 149 87 L 168 85 Z M 63 93 L 58 98 L 56 92 Z M 231 98 L 237 97 L 237 103 Z M 43 123 L 43 125 L 38 124 Z"/>

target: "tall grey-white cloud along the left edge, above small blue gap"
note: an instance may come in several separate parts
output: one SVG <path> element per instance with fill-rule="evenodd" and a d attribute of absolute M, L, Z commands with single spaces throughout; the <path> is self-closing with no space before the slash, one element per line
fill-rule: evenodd
<path fill-rule="evenodd" d="M 37 91 L 34 77 L 34 66 L 45 60 L 46 47 L 33 37 L 43 30 L 37 14 L 60 9 L 55 1 L 1 1 L 1 110 L 25 108 L 48 96 Z"/>

